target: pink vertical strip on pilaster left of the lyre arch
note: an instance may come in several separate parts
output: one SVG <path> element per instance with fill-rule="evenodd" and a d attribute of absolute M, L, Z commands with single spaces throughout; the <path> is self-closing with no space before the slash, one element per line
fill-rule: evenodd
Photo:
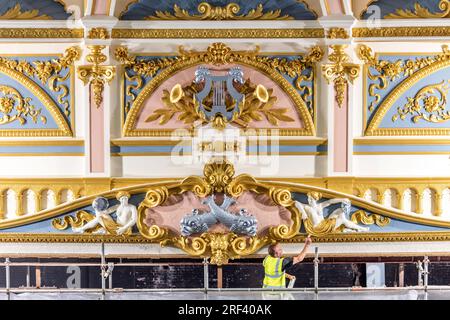
<path fill-rule="evenodd" d="M 90 172 L 98 173 L 105 171 L 105 124 L 103 102 L 97 108 L 94 102 L 94 92 L 90 86 Z"/>

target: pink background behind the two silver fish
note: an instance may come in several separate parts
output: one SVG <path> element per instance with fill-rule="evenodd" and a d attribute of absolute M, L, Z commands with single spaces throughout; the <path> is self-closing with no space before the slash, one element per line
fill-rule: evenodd
<path fill-rule="evenodd" d="M 217 194 L 217 203 L 223 201 L 223 196 Z M 203 199 L 196 197 L 192 192 L 183 195 L 171 196 L 167 204 L 156 208 L 147 209 L 145 223 L 169 228 L 172 232 L 179 234 L 180 221 L 190 214 L 192 209 L 199 209 L 200 212 L 209 211 L 209 207 L 201 203 Z M 270 226 L 280 224 L 291 225 L 291 213 L 283 208 L 270 203 L 265 195 L 257 195 L 253 192 L 244 192 L 236 199 L 236 204 L 230 206 L 229 211 L 237 213 L 239 209 L 245 208 L 254 215 L 258 221 L 258 234 L 267 232 Z M 229 231 L 224 225 L 216 224 L 210 228 L 211 232 Z"/>

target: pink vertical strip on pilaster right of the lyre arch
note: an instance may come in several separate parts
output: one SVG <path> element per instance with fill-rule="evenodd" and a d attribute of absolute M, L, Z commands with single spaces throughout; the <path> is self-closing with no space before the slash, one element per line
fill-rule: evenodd
<path fill-rule="evenodd" d="M 342 107 L 334 101 L 334 171 L 348 171 L 348 101 L 345 92 Z"/>

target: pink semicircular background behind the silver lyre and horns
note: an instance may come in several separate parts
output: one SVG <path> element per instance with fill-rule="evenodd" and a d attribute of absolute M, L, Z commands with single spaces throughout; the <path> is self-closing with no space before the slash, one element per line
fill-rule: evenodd
<path fill-rule="evenodd" d="M 208 66 L 212 69 L 219 69 L 216 66 Z M 227 65 L 222 69 L 229 69 L 232 66 Z M 269 77 L 265 76 L 259 71 L 251 69 L 249 67 L 240 66 L 244 71 L 244 77 L 250 78 L 250 80 L 255 84 L 262 84 L 266 88 L 273 89 L 273 95 L 278 98 L 278 101 L 275 103 L 274 107 L 278 108 L 288 108 L 288 112 L 286 115 L 290 116 L 294 119 L 293 122 L 279 122 L 279 127 L 271 125 L 265 118 L 262 121 L 252 121 L 249 124 L 250 128 L 302 128 L 303 123 L 300 120 L 300 115 L 297 111 L 296 106 L 289 98 L 289 96 Z M 158 121 L 153 122 L 145 122 L 145 119 L 148 118 L 156 109 L 163 108 L 164 105 L 161 102 L 161 97 L 163 90 L 166 89 L 170 91 L 174 85 L 177 83 L 182 86 L 186 86 L 192 82 L 194 79 L 194 72 L 198 68 L 198 66 L 188 68 L 177 73 L 175 76 L 167 79 L 159 88 L 155 90 L 155 92 L 144 102 L 144 106 L 142 108 L 141 113 L 138 115 L 136 128 L 137 129 L 176 129 L 176 128 L 189 128 L 189 125 L 185 125 L 183 122 L 178 121 L 176 116 L 174 116 L 167 124 L 159 125 Z"/>

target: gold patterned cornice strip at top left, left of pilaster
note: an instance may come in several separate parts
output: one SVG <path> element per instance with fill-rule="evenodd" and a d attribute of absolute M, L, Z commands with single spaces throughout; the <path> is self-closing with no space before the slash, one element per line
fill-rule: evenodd
<path fill-rule="evenodd" d="M 84 29 L 68 28 L 0 28 L 0 39 L 11 38 L 74 38 L 84 37 Z"/>

